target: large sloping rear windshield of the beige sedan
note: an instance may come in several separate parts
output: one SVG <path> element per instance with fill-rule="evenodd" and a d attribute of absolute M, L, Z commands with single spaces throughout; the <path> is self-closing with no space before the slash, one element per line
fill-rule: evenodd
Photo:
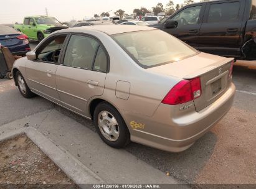
<path fill-rule="evenodd" d="M 112 35 L 113 39 L 143 68 L 177 62 L 198 52 L 161 30 Z"/>

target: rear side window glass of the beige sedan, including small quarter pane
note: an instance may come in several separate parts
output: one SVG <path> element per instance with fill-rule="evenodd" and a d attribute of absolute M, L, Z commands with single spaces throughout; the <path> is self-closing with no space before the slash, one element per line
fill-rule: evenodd
<path fill-rule="evenodd" d="M 106 71 L 107 55 L 97 40 L 82 35 L 72 35 L 65 53 L 64 65 Z"/>

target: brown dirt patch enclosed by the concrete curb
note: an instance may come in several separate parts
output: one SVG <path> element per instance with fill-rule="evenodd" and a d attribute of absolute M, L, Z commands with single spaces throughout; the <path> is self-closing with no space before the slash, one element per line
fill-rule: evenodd
<path fill-rule="evenodd" d="M 78 188 L 26 135 L 0 143 L 0 184 Z"/>

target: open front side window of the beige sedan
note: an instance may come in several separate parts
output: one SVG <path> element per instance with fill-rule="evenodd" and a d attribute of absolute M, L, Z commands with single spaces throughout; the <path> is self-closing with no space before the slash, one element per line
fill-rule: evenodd
<path fill-rule="evenodd" d="M 54 37 L 54 39 L 47 41 L 44 48 L 42 48 L 37 53 L 37 59 L 40 61 L 52 62 L 57 63 L 59 60 L 60 52 L 63 48 L 64 40 L 66 35 L 59 35 Z"/>

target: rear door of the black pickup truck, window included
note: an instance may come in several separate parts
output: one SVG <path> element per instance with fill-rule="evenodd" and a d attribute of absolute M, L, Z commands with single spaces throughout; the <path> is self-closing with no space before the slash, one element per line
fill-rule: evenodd
<path fill-rule="evenodd" d="M 199 34 L 199 50 L 240 56 L 245 1 L 209 2 Z"/>

